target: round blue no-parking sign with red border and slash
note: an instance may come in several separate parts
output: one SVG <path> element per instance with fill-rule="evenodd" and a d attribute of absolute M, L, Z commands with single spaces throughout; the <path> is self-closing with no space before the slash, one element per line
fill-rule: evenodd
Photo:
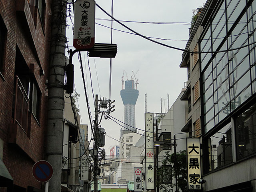
<path fill-rule="evenodd" d="M 32 174 L 37 181 L 47 182 L 52 178 L 52 165 L 48 161 L 38 161 L 32 168 Z"/>

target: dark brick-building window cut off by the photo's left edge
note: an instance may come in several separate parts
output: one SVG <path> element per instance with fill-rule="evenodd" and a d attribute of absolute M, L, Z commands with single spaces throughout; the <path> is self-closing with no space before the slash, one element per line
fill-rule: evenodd
<path fill-rule="evenodd" d="M 7 30 L 4 25 L 4 21 L 0 16 L 0 74 L 4 70 L 4 47 L 5 47 L 6 33 L 7 33 Z"/>

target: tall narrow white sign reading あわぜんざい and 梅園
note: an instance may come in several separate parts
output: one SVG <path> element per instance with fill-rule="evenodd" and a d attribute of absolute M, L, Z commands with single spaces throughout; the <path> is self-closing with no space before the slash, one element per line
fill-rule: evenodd
<path fill-rule="evenodd" d="M 153 113 L 145 113 L 146 189 L 154 189 L 154 124 Z"/>

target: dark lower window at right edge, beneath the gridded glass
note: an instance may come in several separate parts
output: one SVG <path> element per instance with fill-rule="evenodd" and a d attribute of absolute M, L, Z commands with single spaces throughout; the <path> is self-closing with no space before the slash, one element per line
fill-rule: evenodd
<path fill-rule="evenodd" d="M 256 104 L 235 118 L 237 158 L 256 152 Z"/>

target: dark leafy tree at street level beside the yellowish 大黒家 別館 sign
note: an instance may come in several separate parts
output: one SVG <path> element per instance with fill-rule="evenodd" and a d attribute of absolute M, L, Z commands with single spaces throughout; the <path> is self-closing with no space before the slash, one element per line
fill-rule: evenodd
<path fill-rule="evenodd" d="M 186 150 L 176 153 L 177 164 L 174 164 L 174 153 L 169 151 L 165 153 L 162 166 L 157 171 L 158 179 L 156 185 L 164 192 L 173 192 L 175 186 L 175 166 L 177 168 L 178 188 L 183 192 L 187 186 L 187 163 Z"/>

